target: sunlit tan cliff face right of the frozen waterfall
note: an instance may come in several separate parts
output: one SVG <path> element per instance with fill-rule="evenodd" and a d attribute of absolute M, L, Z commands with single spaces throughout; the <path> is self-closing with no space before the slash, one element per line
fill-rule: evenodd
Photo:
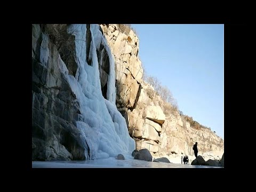
<path fill-rule="evenodd" d="M 147 148 L 153 155 L 193 155 L 198 142 L 199 153 L 223 152 L 223 140 L 208 129 L 192 128 L 154 88 L 143 82 L 138 58 L 139 39 L 132 30 L 124 34 L 117 25 L 101 25 L 115 58 L 118 110 L 126 119 L 136 148 Z"/>

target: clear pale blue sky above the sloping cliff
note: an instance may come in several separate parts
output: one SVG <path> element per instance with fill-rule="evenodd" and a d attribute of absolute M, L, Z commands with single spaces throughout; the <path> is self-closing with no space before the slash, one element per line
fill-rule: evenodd
<path fill-rule="evenodd" d="M 147 75 L 167 86 L 179 110 L 224 139 L 224 25 L 132 24 Z"/>

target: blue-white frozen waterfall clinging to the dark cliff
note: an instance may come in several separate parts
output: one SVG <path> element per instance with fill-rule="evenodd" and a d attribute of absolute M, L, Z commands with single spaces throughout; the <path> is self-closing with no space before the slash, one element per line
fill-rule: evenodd
<path fill-rule="evenodd" d="M 69 33 L 75 35 L 76 59 L 78 63 L 76 77 L 68 74 L 68 69 L 59 57 L 58 65 L 67 78 L 72 91 L 80 103 L 81 116 L 77 128 L 81 131 L 86 159 L 114 157 L 117 154 L 131 154 L 135 141 L 130 137 L 125 118 L 116 108 L 115 63 L 106 38 L 102 36 L 99 25 L 90 25 L 90 59 L 86 61 L 86 25 L 70 25 Z M 101 93 L 97 48 L 103 45 L 107 50 L 110 69 L 108 75 L 107 99 Z"/>

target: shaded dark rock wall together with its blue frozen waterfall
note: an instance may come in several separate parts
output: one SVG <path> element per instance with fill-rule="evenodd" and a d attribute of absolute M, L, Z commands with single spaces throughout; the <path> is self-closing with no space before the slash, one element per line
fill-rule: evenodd
<path fill-rule="evenodd" d="M 32 27 L 32 160 L 131 154 L 115 63 L 99 25 Z"/>

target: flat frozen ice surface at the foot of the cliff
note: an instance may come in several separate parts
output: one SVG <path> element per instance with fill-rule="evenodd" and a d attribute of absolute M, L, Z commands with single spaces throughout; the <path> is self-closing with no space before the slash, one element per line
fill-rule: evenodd
<path fill-rule="evenodd" d="M 94 161 L 32 162 L 33 168 L 223 168 L 178 163 L 157 163 L 137 159 L 117 160 L 114 157 Z"/>

